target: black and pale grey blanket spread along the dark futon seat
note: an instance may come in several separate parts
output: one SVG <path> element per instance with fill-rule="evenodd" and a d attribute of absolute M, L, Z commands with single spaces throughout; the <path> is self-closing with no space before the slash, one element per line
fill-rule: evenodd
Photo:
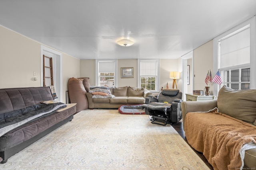
<path fill-rule="evenodd" d="M 23 109 L 0 114 L 0 136 L 8 131 L 55 113 L 58 109 L 66 107 L 63 103 L 37 104 Z"/>

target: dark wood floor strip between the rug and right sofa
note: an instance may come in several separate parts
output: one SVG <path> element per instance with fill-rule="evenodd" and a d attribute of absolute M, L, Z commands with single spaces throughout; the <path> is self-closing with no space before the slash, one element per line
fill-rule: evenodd
<path fill-rule="evenodd" d="M 184 139 L 184 141 L 186 141 L 186 143 L 188 143 L 186 136 L 185 136 L 185 132 L 183 130 L 183 123 L 182 121 L 179 123 L 173 123 L 172 127 L 180 134 L 180 136 Z M 189 145 L 189 144 L 188 144 Z M 190 146 L 190 145 L 189 145 Z M 190 146 L 191 147 L 191 146 Z M 191 147 L 192 148 L 192 147 Z M 193 148 L 192 148 L 193 149 Z M 211 164 L 209 164 L 209 162 L 206 160 L 206 158 L 204 157 L 204 155 L 201 152 L 196 151 L 195 149 L 193 149 L 194 152 L 196 152 L 196 154 L 204 161 L 204 163 L 210 168 L 210 170 L 213 170 L 213 167 Z"/>

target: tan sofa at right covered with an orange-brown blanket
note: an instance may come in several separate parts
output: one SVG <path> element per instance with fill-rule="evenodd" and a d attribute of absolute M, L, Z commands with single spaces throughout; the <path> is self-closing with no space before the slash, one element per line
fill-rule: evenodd
<path fill-rule="evenodd" d="M 218 98 L 182 102 L 188 143 L 217 169 L 256 169 L 256 90 L 223 86 Z"/>

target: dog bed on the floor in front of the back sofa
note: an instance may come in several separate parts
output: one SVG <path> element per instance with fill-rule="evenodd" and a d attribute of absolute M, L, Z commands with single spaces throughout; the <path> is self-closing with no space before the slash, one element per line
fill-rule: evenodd
<path fill-rule="evenodd" d="M 142 105 L 122 105 L 118 108 L 120 114 L 132 114 L 132 115 L 144 115 L 145 110 L 142 109 Z"/>

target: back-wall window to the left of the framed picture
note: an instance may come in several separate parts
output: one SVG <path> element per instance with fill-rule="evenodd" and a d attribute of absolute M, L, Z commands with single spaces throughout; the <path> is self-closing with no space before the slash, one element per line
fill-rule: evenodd
<path fill-rule="evenodd" d="M 98 86 L 112 87 L 116 84 L 116 61 L 97 61 L 96 84 Z"/>

